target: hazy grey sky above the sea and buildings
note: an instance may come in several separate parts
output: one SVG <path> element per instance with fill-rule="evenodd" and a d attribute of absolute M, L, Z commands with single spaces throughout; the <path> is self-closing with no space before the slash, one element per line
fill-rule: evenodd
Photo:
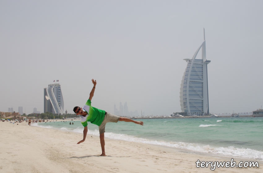
<path fill-rule="evenodd" d="M 0 111 L 36 107 L 59 80 L 64 109 L 114 103 L 181 112 L 180 84 L 205 28 L 209 110 L 263 105 L 263 1 L 0 1 Z M 200 58 L 201 51 L 197 58 Z"/>

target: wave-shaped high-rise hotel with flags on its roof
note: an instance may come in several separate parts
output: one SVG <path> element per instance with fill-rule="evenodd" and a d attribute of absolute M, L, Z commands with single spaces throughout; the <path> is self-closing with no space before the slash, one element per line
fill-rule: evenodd
<path fill-rule="evenodd" d="M 64 113 L 64 101 L 60 84 L 50 84 L 44 88 L 44 113 L 62 115 Z"/>

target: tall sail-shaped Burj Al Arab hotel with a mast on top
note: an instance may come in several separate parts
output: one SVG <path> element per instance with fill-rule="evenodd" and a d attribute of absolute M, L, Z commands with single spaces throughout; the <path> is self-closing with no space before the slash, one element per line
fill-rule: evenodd
<path fill-rule="evenodd" d="M 202 59 L 196 59 L 196 55 L 202 48 Z M 187 62 L 183 73 L 180 88 L 180 105 L 182 112 L 188 115 L 209 114 L 207 64 L 205 53 L 205 29 L 204 42 L 196 50 L 192 59 L 183 59 Z"/>

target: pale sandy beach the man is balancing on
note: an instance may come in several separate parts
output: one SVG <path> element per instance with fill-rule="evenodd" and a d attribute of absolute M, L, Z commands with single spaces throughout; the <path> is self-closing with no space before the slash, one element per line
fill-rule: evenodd
<path fill-rule="evenodd" d="M 18 124 L 18 125 L 17 125 Z M 197 168 L 196 161 L 231 161 L 231 158 L 190 154 L 173 148 L 105 139 L 106 157 L 101 154 L 98 136 L 40 127 L 26 122 L 0 122 L 0 172 L 263 172 L 259 167 Z"/>

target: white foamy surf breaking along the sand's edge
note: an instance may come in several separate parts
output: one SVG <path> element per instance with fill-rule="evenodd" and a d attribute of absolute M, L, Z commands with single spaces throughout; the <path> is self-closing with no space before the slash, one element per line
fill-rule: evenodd
<path fill-rule="evenodd" d="M 67 131 L 67 132 L 74 132 L 78 134 L 83 133 L 82 130 L 78 129 L 79 127 L 77 127 L 76 129 L 67 129 L 67 127 L 57 128 L 52 126 L 42 126 L 41 124 L 42 123 L 38 123 L 35 125 L 32 124 L 32 126 L 36 126 L 40 128 L 56 129 L 56 130 Z M 88 129 L 88 135 L 94 135 L 99 137 L 99 133 L 98 131 L 96 131 L 96 129 Z M 258 155 L 262 155 L 263 153 L 260 150 L 250 149 L 249 147 L 248 148 L 234 147 L 234 146 L 222 147 L 222 146 L 213 146 L 204 143 L 189 143 L 182 141 L 175 142 L 175 141 L 148 139 L 147 137 L 136 137 L 133 135 L 111 133 L 111 132 L 106 132 L 105 138 L 112 140 L 121 140 L 126 142 L 143 143 L 143 144 L 149 144 L 149 145 L 165 147 L 165 148 L 168 147 L 186 153 L 197 153 L 199 155 L 209 155 L 209 156 L 212 155 L 216 157 L 233 157 L 240 159 L 252 159 L 255 161 L 263 161 L 263 159 L 256 159 L 257 157 L 262 158 L 261 156 Z"/>

